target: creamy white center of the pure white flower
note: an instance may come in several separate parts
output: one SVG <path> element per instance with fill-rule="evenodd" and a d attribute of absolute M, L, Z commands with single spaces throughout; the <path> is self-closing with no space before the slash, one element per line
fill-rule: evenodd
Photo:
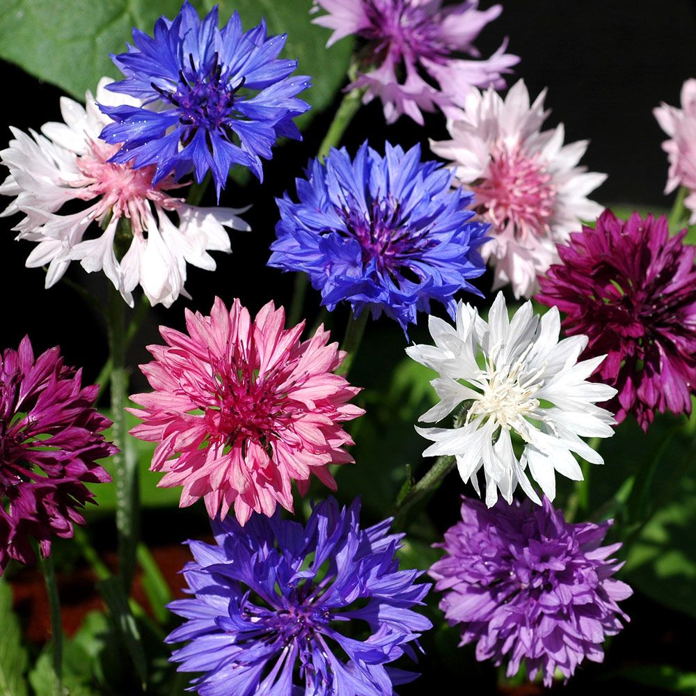
<path fill-rule="evenodd" d="M 528 427 L 524 417 L 534 413 L 537 420 L 540 418 L 535 413 L 539 408 L 539 400 L 535 398 L 535 394 L 544 385 L 544 380 L 539 378 L 545 367 L 531 373 L 526 368 L 525 358 L 531 348 L 532 344 L 512 365 L 496 365 L 496 354 L 499 350 L 491 351 L 486 369 L 480 371 L 474 382 L 482 393 L 468 410 L 465 425 L 473 418 L 483 416 L 492 421 L 494 429 L 514 429 L 525 438 Z"/>

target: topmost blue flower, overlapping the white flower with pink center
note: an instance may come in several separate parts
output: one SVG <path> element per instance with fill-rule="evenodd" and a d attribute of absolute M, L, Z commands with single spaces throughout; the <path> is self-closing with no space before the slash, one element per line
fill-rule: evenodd
<path fill-rule="evenodd" d="M 267 37 L 263 20 L 243 32 L 236 12 L 219 29 L 217 7 L 201 21 L 188 0 L 154 33 L 134 29 L 135 46 L 112 56 L 126 79 L 109 90 L 143 105 L 100 104 L 115 121 L 100 137 L 122 143 L 111 161 L 156 164 L 153 185 L 172 170 L 177 180 L 193 170 L 199 183 L 211 171 L 218 196 L 234 164 L 262 180 L 260 157 L 271 158 L 278 136 L 301 140 L 292 118 L 310 108 L 295 96 L 309 78 L 289 77 L 297 61 L 276 57 L 286 35 Z"/>

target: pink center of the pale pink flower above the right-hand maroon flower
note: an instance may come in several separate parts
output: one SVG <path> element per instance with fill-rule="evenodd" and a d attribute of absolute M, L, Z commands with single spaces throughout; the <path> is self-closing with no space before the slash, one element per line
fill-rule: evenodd
<path fill-rule="evenodd" d="M 495 232 L 512 225 L 520 239 L 548 234 L 557 191 L 538 152 L 530 157 L 519 144 L 509 150 L 496 143 L 487 177 L 471 189 L 480 213 L 493 223 Z"/>

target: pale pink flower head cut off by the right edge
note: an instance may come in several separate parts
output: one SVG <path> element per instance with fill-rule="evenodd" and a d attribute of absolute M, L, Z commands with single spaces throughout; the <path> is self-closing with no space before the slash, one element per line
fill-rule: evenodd
<path fill-rule="evenodd" d="M 696 223 L 696 80 L 687 80 L 681 88 L 681 109 L 662 104 L 653 110 L 655 118 L 670 139 L 662 144 L 670 160 L 665 193 L 679 186 L 690 193 L 684 205 L 691 211 L 689 224 Z"/>

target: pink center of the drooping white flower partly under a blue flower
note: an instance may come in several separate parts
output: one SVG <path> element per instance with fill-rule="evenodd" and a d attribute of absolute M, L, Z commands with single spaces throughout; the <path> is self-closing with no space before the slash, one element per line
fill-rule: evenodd
<path fill-rule="evenodd" d="M 79 198 L 91 200 L 102 196 L 94 212 L 95 219 L 102 224 L 111 212 L 112 219 L 126 216 L 131 221 L 133 233 L 143 235 L 152 217 L 149 202 L 157 203 L 165 210 L 175 210 L 183 201 L 165 193 L 166 189 L 179 187 L 173 177 L 167 177 L 152 188 L 155 165 L 134 169 L 132 163 L 112 164 L 109 158 L 119 145 L 102 141 L 90 141 L 86 155 L 77 158 L 77 168 L 84 179 L 74 185 L 80 187 Z"/>

